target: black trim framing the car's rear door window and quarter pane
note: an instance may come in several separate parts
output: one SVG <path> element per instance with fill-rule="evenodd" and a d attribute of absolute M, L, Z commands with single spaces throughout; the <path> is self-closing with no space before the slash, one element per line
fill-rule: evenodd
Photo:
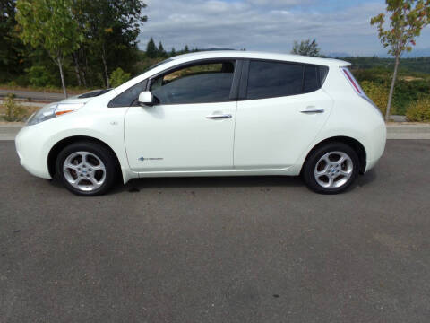
<path fill-rule="evenodd" d="M 271 96 L 268 98 L 261 98 L 261 99 L 248 99 L 247 98 L 247 94 L 248 94 L 248 81 L 249 81 L 249 70 L 251 67 L 251 62 L 264 62 L 264 63 L 280 63 L 280 64 L 290 64 L 290 65 L 302 65 L 303 66 L 303 79 L 302 79 L 302 92 L 297 93 L 297 94 L 289 94 L 289 95 L 278 95 L 278 96 Z M 287 98 L 290 96 L 294 96 L 294 95 L 302 95 L 302 94 L 308 94 L 308 93 L 312 93 L 312 92 L 316 92 L 321 90 L 321 88 L 323 87 L 323 83 L 321 82 L 320 79 L 320 73 L 318 71 L 317 73 L 317 79 L 318 79 L 318 83 L 320 83 L 320 86 L 318 87 L 318 89 L 314 90 L 314 91 L 307 91 L 304 92 L 303 89 L 305 87 L 305 66 L 314 66 L 314 67 L 326 67 L 328 69 L 327 74 L 330 71 L 330 67 L 327 65 L 318 65 L 318 64 L 309 64 L 309 63 L 301 63 L 301 62 L 290 62 L 290 61 L 284 61 L 284 60 L 279 60 L 279 59 L 264 59 L 264 58 L 246 58 L 244 59 L 244 65 L 242 68 L 242 75 L 241 75 L 241 80 L 240 80 L 240 91 L 239 91 L 239 97 L 237 100 L 268 100 L 268 99 L 276 99 L 276 98 Z M 327 79 L 327 77 L 325 77 L 325 80 Z"/>

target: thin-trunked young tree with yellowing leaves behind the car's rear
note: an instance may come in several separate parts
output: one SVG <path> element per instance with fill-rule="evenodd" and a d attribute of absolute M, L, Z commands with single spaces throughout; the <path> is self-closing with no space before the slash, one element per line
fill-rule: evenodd
<path fill-rule="evenodd" d="M 390 119 L 391 101 L 400 64 L 400 57 L 415 46 L 415 39 L 430 21 L 430 0 L 386 0 L 387 13 L 390 14 L 390 28 L 386 29 L 385 13 L 372 18 L 371 25 L 378 28 L 378 37 L 383 48 L 395 57 L 394 72 L 391 80 L 385 120 Z M 388 26 L 387 26 L 388 27 Z"/>

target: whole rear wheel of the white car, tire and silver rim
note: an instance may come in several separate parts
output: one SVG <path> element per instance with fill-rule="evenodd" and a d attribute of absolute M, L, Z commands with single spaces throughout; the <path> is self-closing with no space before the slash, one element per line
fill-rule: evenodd
<path fill-rule="evenodd" d="M 323 144 L 311 152 L 302 171 L 308 188 L 320 194 L 338 194 L 357 178 L 360 162 L 348 144 Z"/>

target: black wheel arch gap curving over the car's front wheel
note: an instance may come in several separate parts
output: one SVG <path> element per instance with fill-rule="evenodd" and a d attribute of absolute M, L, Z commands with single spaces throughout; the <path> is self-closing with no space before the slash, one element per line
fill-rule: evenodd
<path fill-rule="evenodd" d="M 51 175 L 52 178 L 56 175 L 56 157 L 58 156 L 58 153 L 60 153 L 64 147 L 66 147 L 69 144 L 86 141 L 90 143 L 100 144 L 104 147 L 106 147 L 109 151 L 111 151 L 116 159 L 116 167 L 118 171 L 120 171 L 121 176 L 123 176 L 123 170 L 121 168 L 121 162 L 119 162 L 118 156 L 116 152 L 105 142 L 101 141 L 100 139 L 88 136 L 88 135 L 73 135 L 66 138 L 63 138 L 56 144 L 52 146 L 49 153 L 47 154 L 47 169 L 49 171 L 49 175 Z"/>

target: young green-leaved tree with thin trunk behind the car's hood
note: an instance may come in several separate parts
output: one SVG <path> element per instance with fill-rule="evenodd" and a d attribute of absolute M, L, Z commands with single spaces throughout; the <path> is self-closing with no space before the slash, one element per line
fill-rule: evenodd
<path fill-rule="evenodd" d="M 64 57 L 79 48 L 82 34 L 73 20 L 72 0 L 18 0 L 20 37 L 33 48 L 45 48 L 60 70 L 64 96 Z"/>

